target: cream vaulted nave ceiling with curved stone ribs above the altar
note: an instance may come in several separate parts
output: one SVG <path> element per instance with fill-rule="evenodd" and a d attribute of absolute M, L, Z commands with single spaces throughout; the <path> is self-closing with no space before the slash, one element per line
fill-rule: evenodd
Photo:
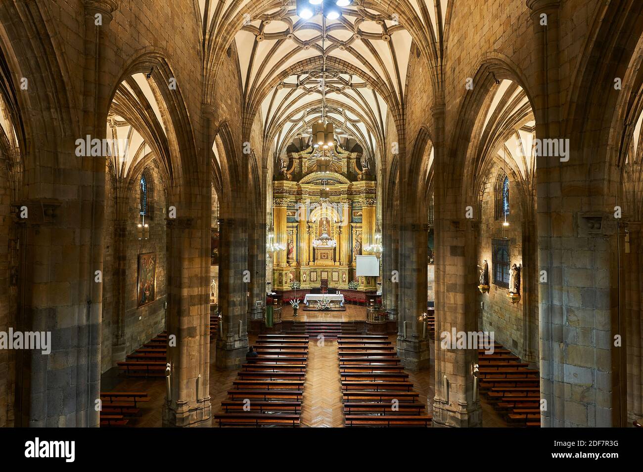
<path fill-rule="evenodd" d="M 228 23 L 244 15 L 234 37 L 244 103 L 251 116 L 260 114 L 275 158 L 320 118 L 325 67 L 327 118 L 337 135 L 356 139 L 373 159 L 384 143 L 388 110 L 403 109 L 412 43 L 439 63 L 448 0 L 355 0 L 334 20 L 320 10 L 302 19 L 294 0 L 269 4 L 253 15 L 248 0 L 199 0 L 206 54 Z"/>

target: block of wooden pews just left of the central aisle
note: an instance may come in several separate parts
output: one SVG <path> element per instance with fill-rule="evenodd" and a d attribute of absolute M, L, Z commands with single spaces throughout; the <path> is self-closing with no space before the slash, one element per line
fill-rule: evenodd
<path fill-rule="evenodd" d="M 259 335 L 258 356 L 242 366 L 215 415 L 219 426 L 299 426 L 308 340 L 305 334 Z"/>

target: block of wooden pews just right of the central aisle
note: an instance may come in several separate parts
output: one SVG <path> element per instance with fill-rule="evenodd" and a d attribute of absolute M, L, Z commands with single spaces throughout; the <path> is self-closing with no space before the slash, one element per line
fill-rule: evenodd
<path fill-rule="evenodd" d="M 383 335 L 338 335 L 346 426 L 430 426 L 394 345 Z"/>

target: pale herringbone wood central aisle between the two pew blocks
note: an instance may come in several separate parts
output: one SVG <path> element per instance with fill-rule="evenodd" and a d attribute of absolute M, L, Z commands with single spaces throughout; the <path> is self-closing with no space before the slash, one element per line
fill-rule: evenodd
<path fill-rule="evenodd" d="M 326 340 L 317 345 L 311 339 L 308 347 L 308 367 L 303 384 L 301 425 L 321 428 L 343 428 L 341 406 L 340 364 L 337 342 Z"/>

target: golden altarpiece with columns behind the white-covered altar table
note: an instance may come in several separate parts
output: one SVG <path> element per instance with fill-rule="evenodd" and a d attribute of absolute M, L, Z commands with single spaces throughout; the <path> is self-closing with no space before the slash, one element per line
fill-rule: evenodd
<path fill-rule="evenodd" d="M 377 290 L 377 277 L 356 277 L 356 256 L 372 254 L 376 229 L 376 182 L 361 167 L 361 153 L 336 144 L 321 153 L 289 152 L 273 182 L 275 252 L 273 290 L 328 286 Z"/>

